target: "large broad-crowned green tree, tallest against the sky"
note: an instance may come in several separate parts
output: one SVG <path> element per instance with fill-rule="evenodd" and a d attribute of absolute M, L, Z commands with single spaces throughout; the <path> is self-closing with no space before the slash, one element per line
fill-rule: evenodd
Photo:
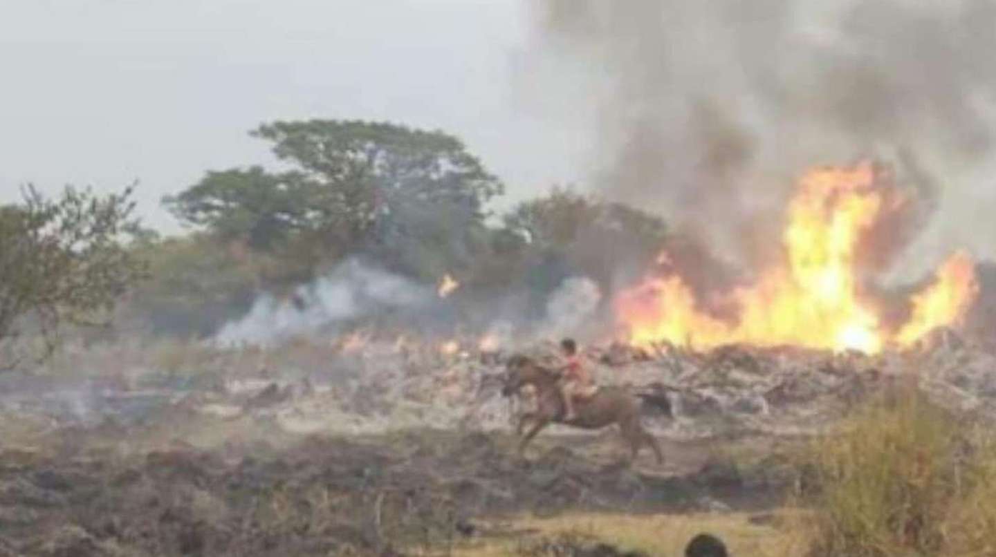
<path fill-rule="evenodd" d="M 485 203 L 503 190 L 459 139 L 442 131 L 310 120 L 264 124 L 252 134 L 271 141 L 292 169 L 209 172 L 164 202 L 182 222 L 254 250 L 313 256 L 318 246 L 332 259 L 373 251 L 394 258 L 388 266 L 425 274 L 413 265 L 423 258 L 400 256 L 434 248 L 445 265 L 467 251 L 452 240 L 477 234 Z"/>

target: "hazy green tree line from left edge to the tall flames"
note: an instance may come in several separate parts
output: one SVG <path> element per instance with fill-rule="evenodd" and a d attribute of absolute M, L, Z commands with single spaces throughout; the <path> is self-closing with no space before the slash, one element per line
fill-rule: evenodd
<path fill-rule="evenodd" d="M 608 285 L 666 233 L 656 215 L 563 187 L 497 214 L 502 181 L 439 130 L 316 119 L 251 134 L 277 167 L 211 170 L 164 198 L 180 236 L 141 228 L 133 188 L 54 200 L 25 189 L 0 210 L 0 339 L 93 319 L 121 299 L 152 331 L 210 334 L 260 291 L 289 291 L 357 255 L 474 291 L 543 291 L 569 275 Z"/>

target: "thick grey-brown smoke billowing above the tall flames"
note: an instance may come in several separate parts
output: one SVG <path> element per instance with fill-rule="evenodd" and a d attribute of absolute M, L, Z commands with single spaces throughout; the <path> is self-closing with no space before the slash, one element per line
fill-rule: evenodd
<path fill-rule="evenodd" d="M 814 164 L 871 156 L 913 181 L 943 176 L 911 193 L 980 215 L 978 198 L 959 205 L 950 188 L 985 187 L 971 170 L 994 146 L 996 3 L 530 5 L 536 56 L 520 82 L 544 103 L 559 95 L 574 118 L 590 114 L 593 185 L 664 212 L 726 257 L 770 256 L 772 217 Z M 956 221 L 945 230 L 958 233 Z"/>

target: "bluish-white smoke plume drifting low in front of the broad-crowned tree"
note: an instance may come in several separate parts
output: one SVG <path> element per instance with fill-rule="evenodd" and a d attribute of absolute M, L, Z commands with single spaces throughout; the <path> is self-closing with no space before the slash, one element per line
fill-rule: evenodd
<path fill-rule="evenodd" d="M 384 310 L 426 305 L 434 299 L 430 286 L 349 260 L 325 277 L 298 287 L 291 299 L 261 295 L 248 314 L 226 323 L 214 342 L 269 344 Z"/>

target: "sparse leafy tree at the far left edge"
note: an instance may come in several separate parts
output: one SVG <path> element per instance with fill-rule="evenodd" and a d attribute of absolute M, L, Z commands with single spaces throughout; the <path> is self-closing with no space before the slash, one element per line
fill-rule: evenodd
<path fill-rule="evenodd" d="M 139 230 L 131 193 L 67 187 L 52 201 L 28 186 L 22 203 L 0 207 L 0 364 L 17 363 L 23 333 L 37 334 L 47 355 L 64 325 L 107 324 L 145 276 L 124 242 Z"/>

